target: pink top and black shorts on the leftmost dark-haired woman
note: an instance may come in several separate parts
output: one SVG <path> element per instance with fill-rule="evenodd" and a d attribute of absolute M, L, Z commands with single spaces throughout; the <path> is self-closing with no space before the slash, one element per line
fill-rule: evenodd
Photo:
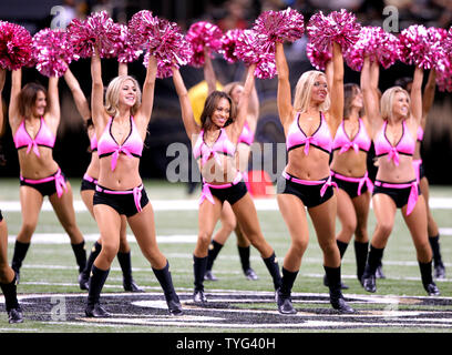
<path fill-rule="evenodd" d="M 19 125 L 13 140 L 17 150 L 27 148 L 27 154 L 30 154 L 32 151 L 39 158 L 41 155 L 39 153 L 38 146 L 47 146 L 53 149 L 55 144 L 55 136 L 45 124 L 43 118 L 41 118 L 41 125 L 34 139 L 31 138 L 31 135 L 27 132 L 25 121 L 23 120 Z M 64 191 L 68 191 L 65 182 L 66 178 L 61 172 L 60 168 L 54 174 L 43 179 L 28 179 L 20 175 L 21 186 L 33 187 L 38 190 L 42 194 L 42 196 L 50 196 L 56 192 L 58 196 L 61 197 Z"/>

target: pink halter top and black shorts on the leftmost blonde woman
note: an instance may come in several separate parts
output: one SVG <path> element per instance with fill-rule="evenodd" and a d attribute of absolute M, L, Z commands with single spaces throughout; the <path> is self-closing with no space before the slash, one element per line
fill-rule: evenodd
<path fill-rule="evenodd" d="M 110 118 L 109 123 L 97 142 L 97 153 L 100 159 L 112 155 L 112 171 L 116 169 L 120 154 L 138 159 L 142 155 L 142 138 L 132 116 L 130 120 L 131 131 L 123 144 L 117 144 L 112 134 L 113 118 Z M 143 184 L 125 191 L 111 190 L 99 184 L 95 185 L 93 204 L 106 204 L 113 207 L 119 214 L 125 214 L 127 217 L 141 212 L 148 202 Z"/>

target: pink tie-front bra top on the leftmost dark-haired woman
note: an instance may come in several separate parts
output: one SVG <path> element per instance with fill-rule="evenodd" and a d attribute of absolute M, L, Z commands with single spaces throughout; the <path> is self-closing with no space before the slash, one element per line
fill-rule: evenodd
<path fill-rule="evenodd" d="M 53 149 L 54 144 L 55 144 L 55 136 L 50 131 L 49 126 L 45 124 L 45 121 L 43 118 L 41 118 L 41 125 L 34 139 L 32 139 L 29 132 L 27 132 L 25 120 L 22 121 L 22 123 L 19 125 L 19 129 L 17 130 L 14 134 L 16 148 L 21 149 L 21 148 L 27 146 L 27 154 L 32 149 L 34 154 L 40 156 L 38 145 Z"/>

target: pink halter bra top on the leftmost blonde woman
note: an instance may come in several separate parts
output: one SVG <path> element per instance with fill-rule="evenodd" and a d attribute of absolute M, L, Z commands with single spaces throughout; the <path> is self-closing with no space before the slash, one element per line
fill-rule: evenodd
<path fill-rule="evenodd" d="M 141 158 L 143 152 L 143 140 L 136 129 L 133 118 L 131 120 L 131 131 L 127 138 L 124 140 L 123 144 L 117 144 L 116 140 L 112 134 L 113 118 L 110 118 L 109 123 L 105 126 L 101 139 L 97 142 L 99 158 L 104 158 L 112 155 L 112 171 L 116 168 L 117 158 L 120 153 L 126 154 L 127 156 Z"/>

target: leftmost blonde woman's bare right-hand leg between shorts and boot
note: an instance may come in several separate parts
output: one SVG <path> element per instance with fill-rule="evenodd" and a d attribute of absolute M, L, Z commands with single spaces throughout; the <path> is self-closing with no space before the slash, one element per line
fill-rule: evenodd
<path fill-rule="evenodd" d="M 127 217 L 127 223 L 135 235 L 140 250 L 144 257 L 150 261 L 152 267 L 158 270 L 165 267 L 166 257 L 161 253 L 157 245 L 154 210 L 151 203 L 147 203 L 141 212 Z"/>

